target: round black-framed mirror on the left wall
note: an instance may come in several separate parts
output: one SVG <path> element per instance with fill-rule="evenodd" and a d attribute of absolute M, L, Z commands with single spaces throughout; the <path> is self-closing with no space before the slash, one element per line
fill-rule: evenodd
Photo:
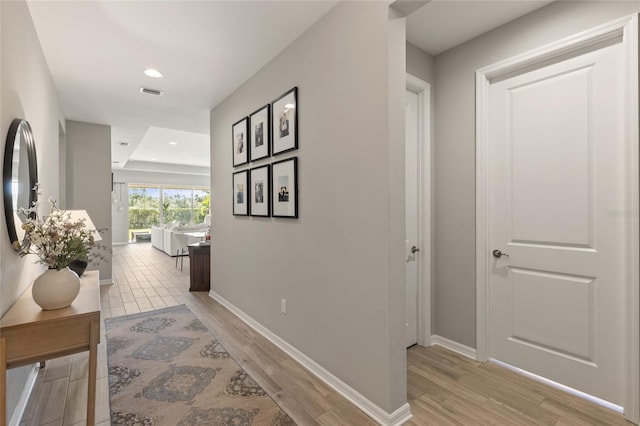
<path fill-rule="evenodd" d="M 35 211 L 27 211 L 38 199 L 38 165 L 36 146 L 31 126 L 26 120 L 16 118 L 9 126 L 4 148 L 4 215 L 11 245 L 19 250 L 25 243 L 22 224 Z"/>

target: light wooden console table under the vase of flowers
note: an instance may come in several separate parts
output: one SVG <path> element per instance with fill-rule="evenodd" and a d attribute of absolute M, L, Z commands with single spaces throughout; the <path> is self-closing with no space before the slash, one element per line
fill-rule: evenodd
<path fill-rule="evenodd" d="M 68 308 L 43 311 L 31 287 L 0 320 L 0 425 L 5 426 L 7 369 L 89 351 L 87 426 L 95 423 L 96 366 L 100 342 L 100 279 L 85 272 Z"/>

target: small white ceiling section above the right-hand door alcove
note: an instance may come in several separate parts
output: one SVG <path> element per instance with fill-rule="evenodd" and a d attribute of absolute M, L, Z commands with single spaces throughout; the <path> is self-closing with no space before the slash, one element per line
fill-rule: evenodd
<path fill-rule="evenodd" d="M 553 0 L 432 0 L 407 18 L 407 41 L 437 55 Z"/>

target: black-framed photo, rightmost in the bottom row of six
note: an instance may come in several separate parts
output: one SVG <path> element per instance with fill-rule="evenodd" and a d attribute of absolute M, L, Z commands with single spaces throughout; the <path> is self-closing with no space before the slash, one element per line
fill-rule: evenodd
<path fill-rule="evenodd" d="M 298 158 L 271 165 L 271 215 L 298 217 Z"/>

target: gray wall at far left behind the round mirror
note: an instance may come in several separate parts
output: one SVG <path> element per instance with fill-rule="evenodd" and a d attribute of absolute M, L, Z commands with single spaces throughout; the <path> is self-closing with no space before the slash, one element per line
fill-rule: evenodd
<path fill-rule="evenodd" d="M 3 1 L 0 2 L 2 153 L 9 125 L 14 118 L 28 120 L 33 129 L 38 177 L 42 184 L 41 212 L 46 212 L 46 200 L 59 195 L 58 162 L 48 160 L 58 158 L 58 126 L 63 120 L 62 112 L 26 3 Z M 13 251 L 3 217 L 0 220 L 0 317 L 45 270 L 44 266 L 34 262 L 35 257 L 20 258 Z M 16 408 L 30 369 L 16 368 L 7 374 L 7 420 Z"/>

